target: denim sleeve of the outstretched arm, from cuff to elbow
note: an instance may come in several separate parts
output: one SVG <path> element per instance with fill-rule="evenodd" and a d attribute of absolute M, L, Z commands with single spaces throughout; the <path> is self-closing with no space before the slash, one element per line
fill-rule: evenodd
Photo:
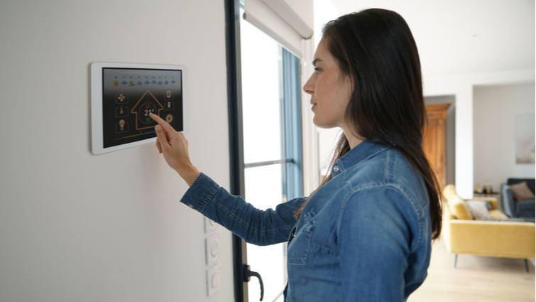
<path fill-rule="evenodd" d="M 246 242 L 268 245 L 285 242 L 296 223 L 294 212 L 305 198 L 280 203 L 275 210 L 259 210 L 239 195 L 231 195 L 200 173 L 180 201 L 218 222 Z"/>

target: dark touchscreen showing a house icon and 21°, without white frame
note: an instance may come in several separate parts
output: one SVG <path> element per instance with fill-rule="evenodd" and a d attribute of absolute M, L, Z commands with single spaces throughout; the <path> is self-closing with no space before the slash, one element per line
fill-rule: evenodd
<path fill-rule="evenodd" d="M 182 131 L 181 70 L 102 69 L 104 148 L 155 137 L 150 112 Z"/>

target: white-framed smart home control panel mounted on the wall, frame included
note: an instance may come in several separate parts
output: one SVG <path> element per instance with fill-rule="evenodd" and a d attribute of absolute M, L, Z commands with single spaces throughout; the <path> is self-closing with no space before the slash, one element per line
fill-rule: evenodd
<path fill-rule="evenodd" d="M 94 154 L 154 142 L 151 112 L 183 130 L 184 67 L 92 63 L 91 72 Z"/>

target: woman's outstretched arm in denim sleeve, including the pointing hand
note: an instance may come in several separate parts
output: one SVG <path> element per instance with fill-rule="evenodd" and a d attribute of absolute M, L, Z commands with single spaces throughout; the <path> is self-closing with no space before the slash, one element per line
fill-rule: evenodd
<path fill-rule="evenodd" d="M 155 126 L 158 151 L 163 153 L 168 165 L 190 185 L 181 198 L 182 203 L 223 225 L 246 242 L 268 245 L 288 239 L 290 230 L 296 223 L 294 212 L 304 198 L 281 203 L 275 210 L 258 210 L 246 203 L 244 198 L 229 194 L 209 176 L 199 173 L 190 162 L 188 141 L 184 134 L 175 131 L 158 115 L 150 116 L 158 123 Z"/>

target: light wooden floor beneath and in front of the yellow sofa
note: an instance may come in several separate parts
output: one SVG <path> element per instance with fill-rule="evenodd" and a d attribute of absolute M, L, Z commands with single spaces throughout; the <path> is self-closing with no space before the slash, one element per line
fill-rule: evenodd
<path fill-rule="evenodd" d="M 521 259 L 476 257 L 460 254 L 454 268 L 441 240 L 432 245 L 432 259 L 425 283 L 408 302 L 525 302 L 535 301 L 535 269 L 529 273 Z"/>

